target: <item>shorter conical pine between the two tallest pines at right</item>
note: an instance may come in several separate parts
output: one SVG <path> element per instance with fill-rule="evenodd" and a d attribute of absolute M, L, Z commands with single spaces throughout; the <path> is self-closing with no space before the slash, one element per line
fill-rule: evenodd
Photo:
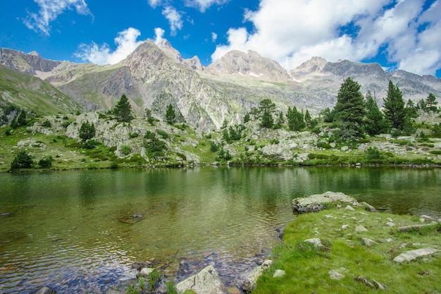
<path fill-rule="evenodd" d="M 378 105 L 372 97 L 371 91 L 366 94 L 366 121 L 364 123 L 364 130 L 369 135 L 379 135 L 388 133 L 389 124 L 385 116 L 378 109 Z"/>

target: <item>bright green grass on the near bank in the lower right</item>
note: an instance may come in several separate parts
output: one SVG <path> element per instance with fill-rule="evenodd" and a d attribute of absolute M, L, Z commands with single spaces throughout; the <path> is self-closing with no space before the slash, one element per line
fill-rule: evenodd
<path fill-rule="evenodd" d="M 395 227 L 385 225 L 388 218 Z M 259 278 L 253 293 L 378 293 L 356 281 L 357 276 L 382 283 L 387 293 L 441 293 L 441 254 L 402 264 L 392 260 L 406 250 L 441 250 L 441 224 L 419 233 L 397 230 L 399 226 L 419 223 L 413 216 L 368 213 L 361 208 L 355 212 L 330 209 L 302 214 L 285 228 L 282 245 L 273 250 L 275 262 Z M 349 228 L 342 228 L 345 224 Z M 355 232 L 358 225 L 368 228 L 368 232 Z M 366 247 L 361 237 L 378 244 Z M 309 238 L 321 238 L 325 248 L 305 243 Z M 275 269 L 283 269 L 286 275 L 273 278 Z M 344 278 L 331 279 L 330 270 L 344 274 Z"/>

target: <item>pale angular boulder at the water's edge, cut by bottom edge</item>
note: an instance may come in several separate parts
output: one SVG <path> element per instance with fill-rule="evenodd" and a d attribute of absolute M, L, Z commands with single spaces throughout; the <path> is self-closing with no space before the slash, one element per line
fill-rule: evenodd
<path fill-rule="evenodd" d="M 228 294 L 227 288 L 221 282 L 218 272 L 212 265 L 178 283 L 175 288 L 179 293 L 184 293 L 185 290 L 193 290 L 197 294 Z"/>

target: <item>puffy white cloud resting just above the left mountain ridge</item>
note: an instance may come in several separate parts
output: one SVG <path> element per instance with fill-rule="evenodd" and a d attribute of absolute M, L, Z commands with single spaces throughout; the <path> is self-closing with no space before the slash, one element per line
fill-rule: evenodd
<path fill-rule="evenodd" d="M 125 59 L 144 41 L 137 41 L 141 35 L 139 30 L 129 27 L 127 30 L 118 32 L 118 37 L 115 38 L 116 49 L 111 51 L 108 44 L 81 44 L 75 56 L 83 61 L 89 61 L 95 64 L 115 64 Z"/>

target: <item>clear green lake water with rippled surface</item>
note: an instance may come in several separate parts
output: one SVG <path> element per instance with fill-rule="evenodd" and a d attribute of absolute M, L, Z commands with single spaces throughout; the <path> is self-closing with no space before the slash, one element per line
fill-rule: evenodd
<path fill-rule="evenodd" d="M 178 280 L 214 263 L 239 286 L 294 219 L 291 200 L 340 191 L 441 216 L 440 169 L 123 169 L 0 174 L 0 293 L 105 293 L 152 260 Z M 133 217 L 142 216 L 142 217 Z"/>

